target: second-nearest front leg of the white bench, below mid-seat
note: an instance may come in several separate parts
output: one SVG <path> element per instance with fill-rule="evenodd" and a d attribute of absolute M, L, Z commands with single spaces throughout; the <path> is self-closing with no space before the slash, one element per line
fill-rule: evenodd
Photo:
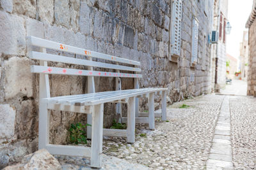
<path fill-rule="evenodd" d="M 127 143 L 135 142 L 135 97 L 128 99 L 127 105 Z"/>

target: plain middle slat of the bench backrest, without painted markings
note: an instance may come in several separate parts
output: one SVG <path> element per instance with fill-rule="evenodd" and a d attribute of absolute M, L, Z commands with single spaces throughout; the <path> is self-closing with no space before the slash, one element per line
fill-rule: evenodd
<path fill-rule="evenodd" d="M 52 62 L 63 62 L 68 64 L 77 64 L 81 66 L 93 66 L 93 67 L 102 67 L 108 69 L 119 69 L 119 70 L 126 70 L 126 71 L 141 71 L 140 68 L 136 67 L 128 67 L 128 66 L 120 66 L 116 64 L 108 64 L 104 62 L 95 62 L 92 60 L 85 60 L 85 59 L 76 59 L 72 57 L 65 57 L 62 55 L 54 55 L 51 53 L 41 53 L 41 52 L 31 52 L 29 54 L 31 59 L 35 60 L 47 60 Z"/>

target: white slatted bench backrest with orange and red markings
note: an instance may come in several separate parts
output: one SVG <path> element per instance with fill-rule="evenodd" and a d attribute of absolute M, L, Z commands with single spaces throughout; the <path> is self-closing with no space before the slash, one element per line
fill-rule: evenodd
<path fill-rule="evenodd" d="M 31 59 L 40 60 L 40 66 L 31 66 L 32 73 L 45 74 L 44 78 L 40 81 L 44 81 L 46 85 L 46 91 L 49 91 L 49 78 L 48 74 L 63 74 L 63 75 L 78 75 L 78 76 L 88 76 L 88 92 L 95 92 L 95 85 L 93 76 L 104 76 L 104 77 L 125 77 L 134 78 L 134 88 L 138 88 L 138 78 L 141 78 L 140 62 L 135 60 L 123 59 L 121 57 L 115 57 L 113 55 L 107 55 L 104 53 L 93 52 L 91 50 L 86 50 L 83 48 L 77 48 L 75 46 L 65 45 L 63 43 L 56 43 L 54 41 L 49 41 L 42 38 L 36 38 L 33 36 L 27 37 L 27 41 L 30 46 L 39 46 L 40 52 L 31 51 L 29 52 L 29 57 Z M 77 55 L 85 55 L 87 59 L 77 59 L 73 57 L 65 57 L 62 55 L 54 55 L 47 53 L 46 48 L 52 50 L 59 50 L 61 52 L 75 53 Z M 96 62 L 92 60 L 92 57 L 104 60 L 113 61 L 112 64 L 105 62 Z M 88 66 L 87 69 L 69 69 L 63 67 L 51 67 L 47 66 L 47 61 L 52 62 L 63 62 L 66 64 L 76 64 L 81 66 Z M 121 66 L 119 64 L 125 64 L 128 66 Z M 115 69 L 116 72 L 106 72 L 106 71 L 93 71 L 93 67 L 101 67 L 107 69 Z M 122 71 L 132 71 L 133 73 L 121 73 Z M 48 90 L 47 90 L 48 89 Z M 42 95 L 44 97 L 50 97 L 49 92 L 47 95 Z"/>

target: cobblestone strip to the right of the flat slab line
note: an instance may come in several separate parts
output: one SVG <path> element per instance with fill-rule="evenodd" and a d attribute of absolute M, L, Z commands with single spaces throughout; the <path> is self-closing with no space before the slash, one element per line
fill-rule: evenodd
<path fill-rule="evenodd" d="M 235 169 L 256 169 L 256 98 L 230 97 Z"/>

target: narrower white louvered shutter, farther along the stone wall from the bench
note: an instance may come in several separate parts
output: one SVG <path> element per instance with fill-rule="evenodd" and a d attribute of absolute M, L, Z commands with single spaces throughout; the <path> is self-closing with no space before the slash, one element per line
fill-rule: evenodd
<path fill-rule="evenodd" d="M 198 55 L 198 27 L 199 22 L 196 18 L 193 18 L 192 23 L 192 50 L 191 50 L 191 64 L 195 64 L 197 62 Z"/>

